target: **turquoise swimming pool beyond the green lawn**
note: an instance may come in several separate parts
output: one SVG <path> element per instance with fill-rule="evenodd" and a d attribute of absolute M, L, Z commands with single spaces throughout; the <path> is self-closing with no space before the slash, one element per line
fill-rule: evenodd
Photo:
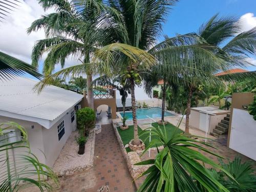
<path fill-rule="evenodd" d="M 123 112 L 119 112 L 120 115 L 123 117 Z M 137 119 L 147 119 L 148 117 L 151 118 L 159 118 L 162 115 L 162 109 L 161 108 L 149 108 L 149 109 L 136 109 L 136 116 Z M 125 112 L 125 117 L 127 117 L 127 120 L 132 120 L 133 119 L 133 114 L 132 112 Z M 148 116 L 148 117 L 147 117 Z M 174 114 L 169 113 L 169 112 L 164 112 L 164 116 L 174 116 Z"/>

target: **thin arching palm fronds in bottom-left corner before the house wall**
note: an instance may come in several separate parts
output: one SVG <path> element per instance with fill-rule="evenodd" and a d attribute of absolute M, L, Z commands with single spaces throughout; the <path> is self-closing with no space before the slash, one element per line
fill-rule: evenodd
<path fill-rule="evenodd" d="M 12 133 L 16 135 L 22 133 L 22 139 L 14 141 L 13 136 L 9 135 L 10 129 L 14 129 Z M 31 185 L 36 186 L 38 191 L 53 190 L 53 184 L 58 183 L 57 176 L 30 152 L 28 135 L 23 126 L 15 122 L 1 123 L 0 142 L 0 170 L 5 170 L 0 173 L 0 191 L 26 190 Z M 17 153 L 17 149 L 22 153 Z M 53 184 L 47 179 L 51 179 Z"/>

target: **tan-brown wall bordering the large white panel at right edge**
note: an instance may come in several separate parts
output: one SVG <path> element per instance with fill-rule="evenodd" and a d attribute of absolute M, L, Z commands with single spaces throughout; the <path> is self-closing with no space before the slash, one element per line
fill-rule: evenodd
<path fill-rule="evenodd" d="M 227 139 L 227 146 L 229 147 L 230 142 L 230 133 L 231 133 L 231 124 L 232 124 L 232 115 L 234 109 L 245 110 L 244 106 L 248 106 L 253 101 L 253 93 L 233 93 L 232 94 L 232 103 L 230 108 L 230 120 L 229 120 L 229 127 L 228 127 L 228 139 Z"/>

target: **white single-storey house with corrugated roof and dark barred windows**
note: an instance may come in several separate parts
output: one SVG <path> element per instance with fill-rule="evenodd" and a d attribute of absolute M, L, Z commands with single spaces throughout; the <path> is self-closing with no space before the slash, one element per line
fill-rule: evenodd
<path fill-rule="evenodd" d="M 74 108 L 83 95 L 55 86 L 38 95 L 33 91 L 36 83 L 24 77 L 0 81 L 0 123 L 14 121 L 24 126 L 31 152 L 52 166 L 76 129 Z"/>

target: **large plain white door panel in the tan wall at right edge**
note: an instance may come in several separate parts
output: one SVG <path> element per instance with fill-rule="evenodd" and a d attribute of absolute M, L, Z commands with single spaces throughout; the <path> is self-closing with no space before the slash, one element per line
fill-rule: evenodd
<path fill-rule="evenodd" d="M 233 109 L 229 147 L 256 161 L 256 121 L 248 111 Z"/>

